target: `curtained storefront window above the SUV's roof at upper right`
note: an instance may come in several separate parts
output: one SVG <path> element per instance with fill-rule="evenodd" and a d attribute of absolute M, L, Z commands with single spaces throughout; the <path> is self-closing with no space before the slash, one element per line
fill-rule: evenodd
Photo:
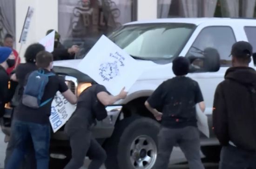
<path fill-rule="evenodd" d="M 256 0 L 158 0 L 158 18 L 256 17 Z"/>

